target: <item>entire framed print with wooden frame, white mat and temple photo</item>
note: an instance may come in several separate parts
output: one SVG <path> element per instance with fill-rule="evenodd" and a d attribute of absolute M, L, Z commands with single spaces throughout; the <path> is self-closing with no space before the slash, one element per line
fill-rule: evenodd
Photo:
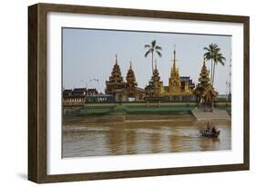
<path fill-rule="evenodd" d="M 249 17 L 28 7 L 28 179 L 249 170 Z"/>

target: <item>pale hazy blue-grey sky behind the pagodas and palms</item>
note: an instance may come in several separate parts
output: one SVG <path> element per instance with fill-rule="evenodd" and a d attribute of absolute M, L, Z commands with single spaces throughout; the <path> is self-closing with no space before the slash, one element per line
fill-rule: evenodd
<path fill-rule="evenodd" d="M 138 87 L 144 88 L 152 75 L 151 55 L 144 56 L 145 44 L 157 40 L 162 47 L 162 57 L 157 56 L 158 69 L 164 85 L 169 83 L 169 74 L 176 44 L 180 76 L 190 76 L 198 83 L 203 64 L 203 47 L 218 44 L 226 57 L 225 66 L 217 65 L 214 87 L 219 94 L 226 94 L 226 81 L 230 73 L 231 36 L 205 34 L 171 34 L 95 29 L 63 28 L 63 87 L 97 88 L 104 93 L 106 80 L 111 74 L 118 54 L 118 64 L 124 79 L 129 61 L 136 75 Z M 156 56 L 156 55 L 155 55 Z M 210 63 L 208 63 L 210 70 Z M 89 80 L 98 79 L 89 82 Z"/>

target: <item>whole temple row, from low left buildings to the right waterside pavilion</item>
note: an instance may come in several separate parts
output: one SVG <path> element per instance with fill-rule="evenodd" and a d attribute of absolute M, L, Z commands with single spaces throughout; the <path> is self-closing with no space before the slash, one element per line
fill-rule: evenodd
<path fill-rule="evenodd" d="M 124 80 L 118 64 L 118 56 L 116 55 L 112 72 L 108 81 L 106 81 L 105 94 L 98 94 L 96 89 L 87 90 L 85 88 L 77 88 L 74 90 L 65 90 L 63 92 L 63 98 L 67 103 L 83 103 L 85 101 L 198 102 L 199 106 L 204 106 L 205 109 L 211 110 L 218 93 L 210 84 L 209 71 L 205 65 L 205 60 L 200 71 L 199 83 L 196 88 L 189 76 L 180 76 L 177 62 L 176 50 L 174 49 L 169 82 L 168 85 L 164 86 L 160 78 L 157 61 L 155 61 L 153 74 L 148 81 L 148 85 L 143 89 L 138 87 L 136 74 L 132 69 L 131 62 L 129 63 L 126 79 Z"/>

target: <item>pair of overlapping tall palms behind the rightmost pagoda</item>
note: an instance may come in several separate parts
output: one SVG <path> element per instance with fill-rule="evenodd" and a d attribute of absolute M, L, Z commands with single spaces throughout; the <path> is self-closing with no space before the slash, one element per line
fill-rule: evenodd
<path fill-rule="evenodd" d="M 226 61 L 226 58 L 220 53 L 220 47 L 218 46 L 218 44 L 211 43 L 208 47 L 204 47 L 203 49 L 206 50 L 204 57 L 211 63 L 210 84 L 213 86 L 215 78 L 215 66 L 216 64 L 224 65 L 224 61 Z"/>

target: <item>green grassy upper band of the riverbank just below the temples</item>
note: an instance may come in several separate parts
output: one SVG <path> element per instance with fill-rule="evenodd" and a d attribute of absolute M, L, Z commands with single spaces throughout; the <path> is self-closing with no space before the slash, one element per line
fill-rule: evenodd
<path fill-rule="evenodd" d="M 218 109 L 231 113 L 230 103 L 216 103 Z M 105 115 L 109 113 L 135 114 L 191 114 L 197 103 L 85 103 L 83 106 L 64 106 L 64 116 Z"/>

